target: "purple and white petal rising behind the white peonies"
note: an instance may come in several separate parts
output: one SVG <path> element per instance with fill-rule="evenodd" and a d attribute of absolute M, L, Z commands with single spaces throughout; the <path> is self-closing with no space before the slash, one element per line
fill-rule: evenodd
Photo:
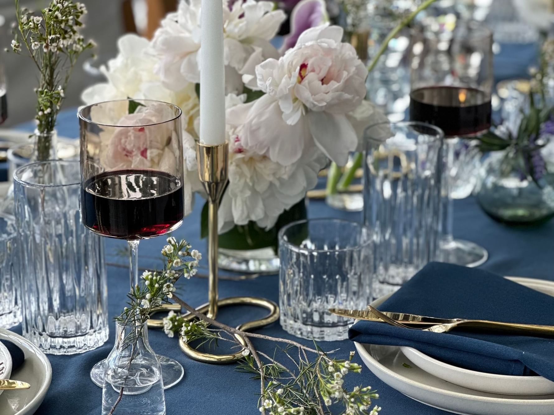
<path fill-rule="evenodd" d="M 302 0 L 296 4 L 290 15 L 290 34 L 285 37 L 281 51 L 294 48 L 304 30 L 317 27 L 326 19 L 327 12 L 323 0 Z"/>

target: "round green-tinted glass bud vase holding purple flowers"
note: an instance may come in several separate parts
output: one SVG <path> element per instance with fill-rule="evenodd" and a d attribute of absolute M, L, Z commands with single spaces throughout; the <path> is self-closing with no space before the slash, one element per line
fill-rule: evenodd
<path fill-rule="evenodd" d="M 531 179 L 521 172 L 516 150 L 493 152 L 486 158 L 475 196 L 486 214 L 512 225 L 536 224 L 554 216 L 554 169 Z M 551 172 L 548 172 L 548 170 Z"/>

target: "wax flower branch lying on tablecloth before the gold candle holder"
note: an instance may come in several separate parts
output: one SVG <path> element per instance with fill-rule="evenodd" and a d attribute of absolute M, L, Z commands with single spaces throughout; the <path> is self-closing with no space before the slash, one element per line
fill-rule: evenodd
<path fill-rule="evenodd" d="M 189 306 L 176 298 L 177 302 L 186 309 Z M 190 310 L 189 310 L 190 311 Z M 195 347 L 203 344 L 216 344 L 218 340 L 228 341 L 233 347 L 242 348 L 244 356 L 237 367 L 240 372 L 253 373 L 261 379 L 261 393 L 258 409 L 263 414 L 304 414 L 329 415 L 331 407 L 341 408 L 343 415 L 378 415 L 381 407 L 371 409 L 372 400 L 379 398 L 377 391 L 371 386 L 356 386 L 347 390 L 344 386 L 345 377 L 349 373 L 361 373 L 362 367 L 353 362 L 355 352 L 350 352 L 347 360 L 336 359 L 319 347 L 306 347 L 288 339 L 278 339 L 263 334 L 244 333 L 224 324 L 213 321 L 198 314 L 201 320 L 190 321 L 181 314 L 170 312 L 163 319 L 163 329 L 168 337 L 173 338 L 175 333 L 184 341 Z M 189 316 L 188 316 L 189 317 Z M 216 329 L 210 327 L 213 324 Z M 275 351 L 273 356 L 253 348 L 247 341 L 247 346 L 239 343 L 235 335 L 245 338 L 261 338 L 273 343 L 286 343 L 287 347 Z M 294 351 L 293 350 L 296 350 Z M 286 355 L 285 362 L 289 362 L 289 369 L 276 360 L 279 352 Z M 310 359 L 309 354 L 315 354 Z M 290 362 L 294 362 L 291 364 Z M 324 406 L 326 409 L 324 410 Z"/>

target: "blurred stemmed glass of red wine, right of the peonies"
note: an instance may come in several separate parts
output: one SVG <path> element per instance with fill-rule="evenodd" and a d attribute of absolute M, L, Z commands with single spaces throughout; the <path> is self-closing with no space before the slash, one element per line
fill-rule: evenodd
<path fill-rule="evenodd" d="M 411 54 L 410 119 L 443 129 L 442 243 L 439 260 L 468 267 L 488 252 L 453 237 L 453 199 L 473 190 L 479 164 L 475 140 L 490 128 L 493 35 L 475 22 L 454 30 L 426 27 L 414 34 Z"/>

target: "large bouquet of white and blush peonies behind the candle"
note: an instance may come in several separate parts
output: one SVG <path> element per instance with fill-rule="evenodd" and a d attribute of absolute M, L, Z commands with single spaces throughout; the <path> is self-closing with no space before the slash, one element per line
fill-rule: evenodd
<path fill-rule="evenodd" d="M 364 100 L 367 69 L 342 42 L 342 28 L 322 23 L 279 51 L 270 40 L 285 14 L 273 3 L 222 1 L 229 186 L 219 208 L 219 244 L 265 248 L 273 258 L 279 228 L 305 217 L 305 195 L 319 171 L 329 160 L 345 164 L 363 128 L 380 118 Z M 300 4 L 307 1 L 321 5 L 320 0 Z M 119 55 L 101 68 L 106 82 L 82 96 L 88 104 L 130 97 L 181 107 L 188 184 L 198 192 L 200 13 L 201 0 L 182 0 L 151 41 L 122 37 Z M 317 23 L 323 20 L 320 13 Z M 207 233 L 206 209 L 202 233 Z"/>

